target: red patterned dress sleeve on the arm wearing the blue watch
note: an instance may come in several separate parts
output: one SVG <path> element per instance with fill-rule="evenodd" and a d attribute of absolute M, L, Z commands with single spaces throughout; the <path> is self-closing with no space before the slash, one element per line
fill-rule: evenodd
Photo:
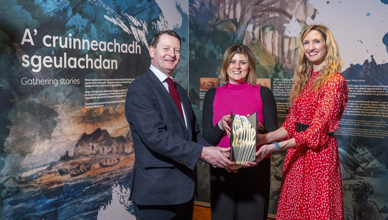
<path fill-rule="evenodd" d="M 308 146 L 318 148 L 326 144 L 329 132 L 338 129 L 348 98 L 348 86 L 341 74 L 336 74 L 318 90 L 317 111 L 306 131 L 294 134 L 296 148 Z"/>

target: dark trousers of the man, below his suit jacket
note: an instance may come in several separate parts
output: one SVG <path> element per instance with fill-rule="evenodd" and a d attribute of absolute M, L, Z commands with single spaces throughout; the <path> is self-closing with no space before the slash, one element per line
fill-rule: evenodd
<path fill-rule="evenodd" d="M 187 203 L 177 205 L 137 205 L 133 202 L 136 220 L 192 220 L 194 196 Z"/>

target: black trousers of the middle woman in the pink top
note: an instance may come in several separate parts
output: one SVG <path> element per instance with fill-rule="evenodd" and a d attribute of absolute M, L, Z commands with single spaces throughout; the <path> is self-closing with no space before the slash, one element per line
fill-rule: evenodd
<path fill-rule="evenodd" d="M 229 173 L 210 167 L 212 220 L 267 220 L 271 159 Z"/>

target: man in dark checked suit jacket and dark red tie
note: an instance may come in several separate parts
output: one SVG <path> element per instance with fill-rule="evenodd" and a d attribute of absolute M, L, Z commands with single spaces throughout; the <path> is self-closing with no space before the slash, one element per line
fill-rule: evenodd
<path fill-rule="evenodd" d="M 202 138 L 187 92 L 172 80 L 180 46 L 174 31 L 156 34 L 151 66 L 126 94 L 135 150 L 130 199 L 137 220 L 192 220 L 197 160 L 226 169 L 234 164 L 227 158 L 230 148 Z"/>

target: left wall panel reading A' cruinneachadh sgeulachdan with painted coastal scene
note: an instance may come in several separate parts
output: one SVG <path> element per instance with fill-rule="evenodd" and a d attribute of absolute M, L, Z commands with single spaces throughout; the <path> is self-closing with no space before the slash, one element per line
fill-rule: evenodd
<path fill-rule="evenodd" d="M 0 6 L 2 220 L 135 219 L 124 104 L 158 31 L 182 37 L 188 2 L 35 0 Z"/>

